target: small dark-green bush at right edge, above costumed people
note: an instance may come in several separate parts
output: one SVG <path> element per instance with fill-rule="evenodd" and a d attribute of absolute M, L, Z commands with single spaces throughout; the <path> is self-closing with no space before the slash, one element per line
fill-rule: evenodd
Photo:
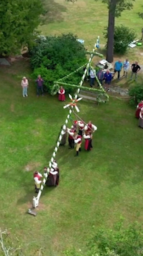
<path fill-rule="evenodd" d="M 129 95 L 133 98 L 130 100 L 130 104 L 136 106 L 141 100 L 143 100 L 143 86 L 134 85 L 129 88 Z"/>

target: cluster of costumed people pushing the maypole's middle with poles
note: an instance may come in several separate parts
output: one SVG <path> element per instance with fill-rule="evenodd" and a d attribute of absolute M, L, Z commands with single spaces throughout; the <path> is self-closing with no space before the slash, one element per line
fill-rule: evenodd
<path fill-rule="evenodd" d="M 84 121 L 74 121 L 71 128 L 67 128 L 67 133 L 69 134 L 68 142 L 69 149 L 73 149 L 76 145 L 76 155 L 79 155 L 81 151 L 82 137 L 85 139 L 84 148 L 87 151 L 92 149 L 92 134 L 97 130 L 97 127 L 89 121 L 87 124 Z M 64 141 L 66 142 L 66 140 Z"/>

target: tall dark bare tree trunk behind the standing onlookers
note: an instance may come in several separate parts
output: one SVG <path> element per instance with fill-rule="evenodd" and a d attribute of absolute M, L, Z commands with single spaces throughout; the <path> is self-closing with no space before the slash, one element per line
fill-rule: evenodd
<path fill-rule="evenodd" d="M 113 62 L 115 10 L 116 10 L 116 0 L 110 0 L 109 14 L 108 14 L 107 55 L 106 55 L 106 59 L 108 62 Z"/>

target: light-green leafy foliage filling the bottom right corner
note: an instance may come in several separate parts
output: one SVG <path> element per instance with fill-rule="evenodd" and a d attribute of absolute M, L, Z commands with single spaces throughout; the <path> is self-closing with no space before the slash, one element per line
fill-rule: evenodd
<path fill-rule="evenodd" d="M 126 229 L 122 219 L 113 229 L 98 229 L 84 252 L 74 249 L 64 252 L 65 256 L 135 256 L 141 254 L 143 247 L 141 225 L 133 223 Z"/>

